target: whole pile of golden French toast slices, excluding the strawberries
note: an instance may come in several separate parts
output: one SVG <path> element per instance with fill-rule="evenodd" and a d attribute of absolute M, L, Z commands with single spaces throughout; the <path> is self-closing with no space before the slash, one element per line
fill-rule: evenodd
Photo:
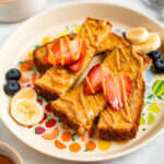
<path fill-rule="evenodd" d="M 70 39 L 84 39 L 87 46 L 84 62 L 79 72 L 66 67 L 47 66 L 44 58 L 56 40 L 34 51 L 34 62 L 42 78 L 36 81 L 38 93 L 51 102 L 56 116 L 82 136 L 95 127 L 96 133 L 104 140 L 129 140 L 136 137 L 144 99 L 144 81 L 142 71 L 149 67 L 151 59 L 137 54 L 122 37 L 112 33 L 112 24 L 96 19 L 86 19 L 78 34 Z M 118 52 L 119 51 L 119 52 Z M 84 93 L 84 80 L 73 89 L 78 79 L 85 71 L 93 57 L 99 52 L 105 56 L 102 66 L 114 75 L 128 74 L 132 89 L 125 107 L 115 112 L 107 104 L 103 92 L 87 95 Z M 119 59 L 119 61 L 118 61 Z M 119 62 L 119 70 L 118 70 Z"/>

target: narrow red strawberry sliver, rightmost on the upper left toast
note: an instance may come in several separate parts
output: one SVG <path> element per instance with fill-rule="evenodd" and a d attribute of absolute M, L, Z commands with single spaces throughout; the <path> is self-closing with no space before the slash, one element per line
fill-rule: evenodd
<path fill-rule="evenodd" d="M 83 40 L 83 42 L 82 42 L 81 51 L 80 51 L 81 58 L 80 58 L 80 60 L 77 61 L 75 63 L 70 65 L 70 66 L 69 66 L 69 69 L 72 70 L 73 72 L 79 72 L 79 71 L 81 70 L 82 63 L 83 63 L 83 61 L 84 61 L 85 54 L 86 54 L 86 44 L 85 44 L 85 42 Z"/>

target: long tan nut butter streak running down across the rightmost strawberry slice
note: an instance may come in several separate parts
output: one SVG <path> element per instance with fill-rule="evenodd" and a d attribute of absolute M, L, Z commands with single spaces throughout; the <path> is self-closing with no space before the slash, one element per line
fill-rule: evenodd
<path fill-rule="evenodd" d="M 119 48 L 119 47 L 117 47 L 117 48 Z M 122 75 L 120 75 L 120 60 L 119 60 L 118 56 L 119 56 L 119 51 L 118 51 L 118 49 L 116 49 L 116 60 L 117 60 L 116 63 L 117 63 L 117 69 L 118 69 L 118 73 L 119 73 L 119 81 L 120 81 L 120 86 L 121 86 L 124 105 L 125 105 L 125 109 L 126 109 L 126 114 L 124 113 L 124 110 L 121 110 L 121 115 L 126 121 L 131 122 L 131 114 L 130 114 L 130 108 L 127 103 L 127 96 L 126 96 L 126 90 L 125 90 L 125 85 L 124 85 Z"/>

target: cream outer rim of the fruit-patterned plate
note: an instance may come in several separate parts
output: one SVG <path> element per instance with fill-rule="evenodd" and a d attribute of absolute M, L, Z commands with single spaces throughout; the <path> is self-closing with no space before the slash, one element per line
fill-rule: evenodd
<path fill-rule="evenodd" d="M 23 27 L 23 26 L 26 26 L 26 24 L 28 23 L 28 22 L 31 22 L 31 21 L 33 21 L 33 20 L 35 20 L 35 19 L 37 19 L 37 17 L 39 17 L 39 16 L 42 16 L 42 15 L 44 15 L 44 14 L 46 14 L 46 13 L 48 13 L 48 12 L 50 12 L 51 10 L 56 10 L 56 9 L 62 9 L 62 8 L 67 8 L 67 7 L 71 7 L 71 5 L 80 5 L 80 4 L 106 4 L 106 5 L 113 5 L 113 7 L 119 7 L 119 8 L 121 8 L 121 9 L 126 9 L 126 10 L 129 10 L 130 12 L 134 12 L 134 13 L 137 13 L 137 14 L 139 14 L 139 15 L 141 15 L 142 17 L 145 17 L 145 19 L 148 19 L 148 20 L 150 20 L 150 21 L 152 21 L 153 23 L 155 23 L 156 25 L 159 25 L 161 28 L 163 28 L 163 31 L 164 31 L 164 26 L 162 25 L 162 23 L 160 23 L 157 20 L 155 20 L 154 17 L 150 17 L 148 14 L 145 14 L 145 13 L 140 13 L 139 11 L 137 11 L 137 10 L 134 10 L 134 9 L 131 9 L 131 8 L 129 8 L 129 7 L 125 7 L 125 5 L 121 5 L 121 4 L 117 4 L 117 3 L 113 3 L 113 2 L 102 2 L 102 1 L 99 1 L 99 0 L 96 0 L 96 1 L 90 1 L 90 0 L 86 0 L 86 1 L 75 1 L 75 2 L 68 2 L 68 3 L 65 3 L 65 4 L 59 4 L 59 5 L 57 5 L 57 7 L 54 7 L 54 8 L 51 8 L 51 9 L 47 9 L 47 10 L 45 10 L 45 11 L 43 11 L 43 12 L 40 12 L 40 13 L 38 13 L 38 14 L 36 14 L 36 15 L 34 15 L 34 16 L 32 16 L 31 19 L 28 19 L 28 20 L 26 20 L 25 22 L 23 22 L 23 24 L 22 25 L 20 25 L 11 35 L 9 35 L 8 36 L 8 38 L 5 39 L 5 42 L 2 44 L 2 46 L 0 47 L 0 51 L 2 51 L 2 49 L 3 49 L 3 47 L 5 47 L 5 45 L 8 45 L 8 43 L 10 42 L 10 39 L 12 39 L 12 37 L 14 37 L 14 35 Z M 0 101 L 1 102 L 1 101 Z M 28 144 L 28 143 L 26 143 L 24 140 L 22 140 L 21 139 L 21 137 L 19 137 L 15 132 L 14 132 L 14 130 L 12 130 L 12 129 L 10 129 L 10 127 L 8 126 L 8 124 L 7 124 L 7 121 L 1 117 L 1 110 L 0 110 L 0 119 L 2 120 L 2 122 L 5 125 L 5 127 L 20 140 L 20 141 L 22 141 L 23 143 L 25 143 L 27 147 L 30 147 L 30 148 L 32 148 L 32 149 L 34 149 L 34 150 L 36 150 L 36 151 L 38 151 L 38 152 L 40 152 L 40 153 L 43 153 L 43 154 L 46 154 L 46 155 L 48 155 L 48 156 L 51 156 L 51 157 L 56 157 L 56 159 L 59 159 L 59 160 L 65 160 L 65 161 L 72 161 L 72 162 L 103 162 L 103 161 L 107 161 L 107 160 L 114 160 L 114 159 L 117 159 L 117 157 L 121 157 L 121 156 L 125 156 L 125 155 L 128 155 L 128 154 L 130 154 L 130 153 L 132 153 L 132 152 L 134 152 L 134 151 L 137 151 L 137 150 L 139 150 L 139 149 L 141 149 L 141 148 L 143 148 L 144 145 L 147 145 L 147 144 L 149 144 L 150 142 L 152 142 L 154 139 L 156 139 L 162 132 L 164 132 L 164 127 L 163 128 L 161 128 L 157 132 L 155 132 L 152 137 L 150 137 L 147 141 L 144 141 L 143 143 L 140 143 L 140 144 L 137 144 L 136 147 L 133 147 L 133 148 L 130 148 L 130 149 L 128 149 L 128 150 L 125 150 L 125 151 L 122 151 L 122 152 L 120 152 L 120 153 L 117 153 L 117 154 L 113 154 L 113 155 L 110 155 L 110 156 L 107 156 L 107 155 L 105 155 L 105 156 L 98 156 L 98 157 L 92 157 L 92 159 L 90 159 L 90 157 L 75 157 L 75 156 L 69 156 L 69 159 L 68 159 L 68 156 L 62 156 L 62 155 L 60 155 L 60 156 L 58 156 L 58 155 L 51 155 L 51 154 L 49 154 L 49 153 L 47 153 L 47 152 L 45 152 L 45 151 L 43 151 L 43 150 L 38 150 L 37 148 L 35 148 L 34 145 L 31 145 L 31 144 Z"/>

